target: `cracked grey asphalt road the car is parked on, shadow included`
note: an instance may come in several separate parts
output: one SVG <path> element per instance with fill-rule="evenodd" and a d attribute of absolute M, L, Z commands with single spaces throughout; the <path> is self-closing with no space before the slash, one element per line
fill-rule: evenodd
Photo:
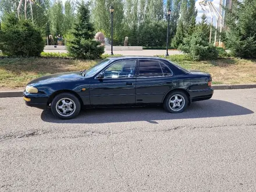
<path fill-rule="evenodd" d="M 74 120 L 0 98 L 0 191 L 255 191 L 256 89 Z"/>

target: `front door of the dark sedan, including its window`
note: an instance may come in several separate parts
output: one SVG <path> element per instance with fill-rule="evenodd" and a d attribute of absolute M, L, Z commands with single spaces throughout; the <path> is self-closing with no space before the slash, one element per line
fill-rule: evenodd
<path fill-rule="evenodd" d="M 104 70 L 104 77 L 90 84 L 91 105 L 135 104 L 135 69 L 137 60 L 112 63 Z"/>

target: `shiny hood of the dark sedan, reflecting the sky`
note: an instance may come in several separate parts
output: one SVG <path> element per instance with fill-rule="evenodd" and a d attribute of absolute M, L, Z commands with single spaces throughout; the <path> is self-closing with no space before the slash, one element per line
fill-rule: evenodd
<path fill-rule="evenodd" d="M 33 86 L 35 84 L 49 84 L 49 83 L 56 83 L 56 82 L 63 82 L 63 81 L 70 81 L 70 80 L 77 80 L 81 79 L 80 72 L 66 72 L 66 73 L 56 73 L 50 74 L 47 76 L 42 76 L 40 78 L 34 79 L 28 83 L 28 85 Z"/>

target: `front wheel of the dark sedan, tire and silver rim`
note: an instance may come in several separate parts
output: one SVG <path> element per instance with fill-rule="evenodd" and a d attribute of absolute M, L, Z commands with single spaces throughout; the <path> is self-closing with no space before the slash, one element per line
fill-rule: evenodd
<path fill-rule="evenodd" d="M 71 103 L 70 103 L 71 102 Z M 56 95 L 51 102 L 52 113 L 60 119 L 73 119 L 81 109 L 79 99 L 70 93 Z"/>

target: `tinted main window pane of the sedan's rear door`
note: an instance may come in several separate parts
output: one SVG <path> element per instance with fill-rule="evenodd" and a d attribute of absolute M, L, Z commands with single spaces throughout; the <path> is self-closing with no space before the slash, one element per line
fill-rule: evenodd
<path fill-rule="evenodd" d="M 141 77 L 155 77 L 163 76 L 163 72 L 158 61 L 140 61 L 138 75 Z"/>

